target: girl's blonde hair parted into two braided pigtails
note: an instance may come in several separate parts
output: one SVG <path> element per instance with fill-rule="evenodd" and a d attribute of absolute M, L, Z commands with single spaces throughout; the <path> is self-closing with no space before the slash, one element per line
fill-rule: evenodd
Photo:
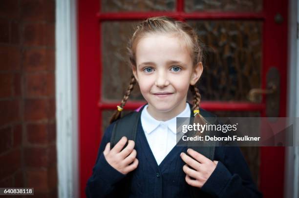
<path fill-rule="evenodd" d="M 200 40 L 195 32 L 195 30 L 187 23 L 175 20 L 170 17 L 152 17 L 142 21 L 139 25 L 137 25 L 131 39 L 128 41 L 128 58 L 129 64 L 131 67 L 136 68 L 136 46 L 138 41 L 147 36 L 148 34 L 173 34 L 174 36 L 179 36 L 182 38 L 182 45 L 186 45 L 187 49 L 190 52 L 192 58 L 193 67 L 197 65 L 199 62 L 202 62 L 202 48 L 200 45 Z M 131 75 L 130 83 L 128 89 L 121 101 L 120 108 L 124 108 L 128 97 L 131 91 L 136 84 L 136 79 L 134 75 Z M 193 110 L 198 110 L 201 100 L 201 95 L 199 90 L 194 86 L 190 85 L 190 90 L 193 94 Z M 121 111 L 117 110 L 113 113 L 110 123 L 118 120 L 121 117 Z"/>

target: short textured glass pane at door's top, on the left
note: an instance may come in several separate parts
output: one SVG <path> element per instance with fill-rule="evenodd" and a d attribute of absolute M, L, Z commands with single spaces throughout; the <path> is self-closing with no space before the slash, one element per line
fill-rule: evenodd
<path fill-rule="evenodd" d="M 102 12 L 174 11 L 175 0 L 102 0 Z"/>

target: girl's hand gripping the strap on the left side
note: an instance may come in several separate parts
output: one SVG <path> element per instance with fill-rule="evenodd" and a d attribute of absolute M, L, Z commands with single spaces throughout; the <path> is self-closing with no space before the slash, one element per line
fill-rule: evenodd
<path fill-rule="evenodd" d="M 134 141 L 129 140 L 124 150 L 122 148 L 127 143 L 127 138 L 122 137 L 120 141 L 110 150 L 110 143 L 106 145 L 104 156 L 107 162 L 122 174 L 128 174 L 137 168 L 138 160 L 136 158 L 136 150 L 134 149 Z"/>

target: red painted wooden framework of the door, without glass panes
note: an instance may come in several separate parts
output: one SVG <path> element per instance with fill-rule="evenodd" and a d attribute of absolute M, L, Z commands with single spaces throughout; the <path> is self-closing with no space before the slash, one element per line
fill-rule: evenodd
<path fill-rule="evenodd" d="M 280 72 L 281 93 L 279 116 L 286 116 L 287 79 L 287 21 L 288 3 L 283 0 L 264 0 L 259 13 L 200 12 L 184 13 L 184 0 L 177 0 L 174 12 L 126 12 L 101 13 L 100 0 L 78 0 L 78 63 L 79 63 L 79 181 L 80 194 L 85 197 L 85 185 L 92 173 L 101 142 L 102 113 L 115 109 L 116 103 L 101 101 L 101 21 L 143 19 L 151 16 L 176 16 L 186 19 L 258 19 L 263 21 L 262 37 L 262 88 L 265 88 L 266 72 L 277 67 Z M 282 24 L 276 24 L 280 13 Z M 126 104 L 127 109 L 138 108 L 143 103 Z M 207 110 L 259 110 L 265 116 L 265 98 L 260 104 L 247 102 L 202 102 Z M 284 147 L 260 148 L 260 190 L 265 198 L 283 197 Z M 275 189 L 275 191 L 274 191 Z"/>

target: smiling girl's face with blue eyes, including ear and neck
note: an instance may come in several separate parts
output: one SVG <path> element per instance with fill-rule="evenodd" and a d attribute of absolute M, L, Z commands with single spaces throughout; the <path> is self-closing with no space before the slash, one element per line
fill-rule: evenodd
<path fill-rule="evenodd" d="M 169 120 L 186 108 L 189 85 L 197 82 L 202 70 L 201 63 L 193 68 L 180 37 L 152 34 L 137 43 L 133 73 L 155 119 Z"/>

